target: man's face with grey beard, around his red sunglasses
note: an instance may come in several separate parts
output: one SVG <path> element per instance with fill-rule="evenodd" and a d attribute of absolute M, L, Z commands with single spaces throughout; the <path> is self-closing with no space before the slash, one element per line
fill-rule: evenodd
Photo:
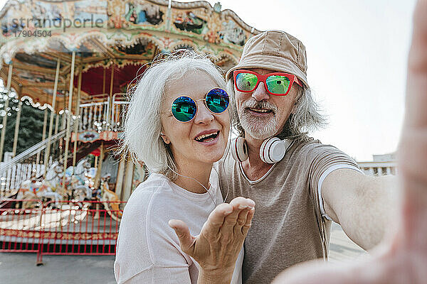
<path fill-rule="evenodd" d="M 260 75 L 275 72 L 266 69 L 248 70 Z M 292 84 L 292 89 L 286 96 L 274 96 L 268 94 L 265 84 L 260 82 L 253 92 L 239 92 L 234 87 L 234 93 L 241 126 L 249 136 L 263 140 L 282 131 L 295 106 L 298 87 L 297 84 Z"/>

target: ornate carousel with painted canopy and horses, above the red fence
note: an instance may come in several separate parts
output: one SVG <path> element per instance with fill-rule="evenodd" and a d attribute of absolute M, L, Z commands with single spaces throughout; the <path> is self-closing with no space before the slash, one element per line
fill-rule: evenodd
<path fill-rule="evenodd" d="M 42 140 L 18 155 L 21 107 L 11 153 L 1 129 L 0 197 L 22 199 L 24 208 L 34 203 L 25 200 L 40 199 L 56 207 L 63 200 L 125 202 L 149 174 L 143 161 L 115 155 L 127 89 L 154 58 L 179 49 L 209 54 L 226 71 L 259 33 L 206 1 L 10 0 L 0 23 L 2 125 L 11 100 L 44 110 Z"/>

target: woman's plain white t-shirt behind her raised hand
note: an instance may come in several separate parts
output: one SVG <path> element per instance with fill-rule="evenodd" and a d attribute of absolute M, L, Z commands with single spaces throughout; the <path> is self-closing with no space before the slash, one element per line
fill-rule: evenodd
<path fill-rule="evenodd" d="M 199 263 L 181 251 L 170 219 L 184 221 L 193 236 L 223 203 L 218 175 L 212 170 L 209 193 L 194 193 L 152 173 L 125 206 L 117 238 L 114 273 L 117 283 L 197 283 Z M 213 201 L 214 200 L 214 201 Z M 241 284 L 243 248 L 236 261 L 233 284 Z"/>

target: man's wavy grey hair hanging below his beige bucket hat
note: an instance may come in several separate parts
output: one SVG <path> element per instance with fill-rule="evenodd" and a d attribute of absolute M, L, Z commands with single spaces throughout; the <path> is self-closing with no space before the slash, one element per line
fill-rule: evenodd
<path fill-rule="evenodd" d="M 290 114 L 288 120 L 285 122 L 282 131 L 277 135 L 280 139 L 299 139 L 304 138 L 305 134 L 312 130 L 320 129 L 324 127 L 327 122 L 326 119 L 320 114 L 320 107 L 316 104 L 312 97 L 310 87 L 304 86 L 299 88 L 295 107 L 293 113 Z M 238 131 L 238 135 L 244 137 L 245 131 L 248 133 L 256 133 L 253 129 L 248 128 L 248 124 L 251 121 L 246 121 L 245 125 L 242 126 L 241 121 L 238 117 L 238 110 L 236 108 L 236 95 L 234 94 L 234 82 L 229 79 L 227 82 L 227 92 L 230 96 L 231 106 L 231 125 Z M 264 131 L 271 132 L 271 129 L 265 129 Z M 273 135 L 273 134 L 271 134 Z M 256 136 L 256 135 L 255 135 Z M 255 137 L 254 138 L 257 138 Z"/>

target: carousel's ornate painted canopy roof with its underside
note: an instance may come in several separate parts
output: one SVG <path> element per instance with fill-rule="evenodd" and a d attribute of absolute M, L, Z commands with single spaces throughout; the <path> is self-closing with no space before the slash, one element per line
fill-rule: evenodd
<path fill-rule="evenodd" d="M 0 11 L 0 77 L 19 97 L 51 104 L 56 64 L 60 72 L 56 111 L 65 108 L 72 56 L 75 78 L 82 74 L 83 102 L 125 92 L 144 65 L 160 53 L 187 48 L 208 53 L 228 70 L 243 45 L 260 33 L 231 10 L 206 1 L 167 0 L 10 0 Z M 113 74 L 113 75 L 112 75 Z"/>

